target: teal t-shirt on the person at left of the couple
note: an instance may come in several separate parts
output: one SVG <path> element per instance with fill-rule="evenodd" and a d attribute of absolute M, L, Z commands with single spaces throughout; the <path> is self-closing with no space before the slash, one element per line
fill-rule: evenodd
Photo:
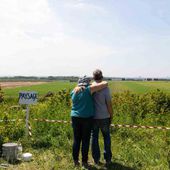
<path fill-rule="evenodd" d="M 94 116 L 93 98 L 90 87 L 86 87 L 79 93 L 71 92 L 72 109 L 71 116 L 88 118 Z"/>

